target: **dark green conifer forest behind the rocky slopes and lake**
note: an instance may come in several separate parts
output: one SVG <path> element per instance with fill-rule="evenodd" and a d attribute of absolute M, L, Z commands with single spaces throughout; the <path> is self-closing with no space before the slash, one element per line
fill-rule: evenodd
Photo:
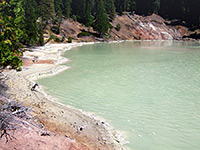
<path fill-rule="evenodd" d="M 99 37 L 112 30 L 110 22 L 123 12 L 161 15 L 200 27 L 200 0 L 0 0 L 0 67 L 20 68 L 22 45 L 44 44 L 47 27 L 59 34 L 63 19 L 93 27 Z"/>

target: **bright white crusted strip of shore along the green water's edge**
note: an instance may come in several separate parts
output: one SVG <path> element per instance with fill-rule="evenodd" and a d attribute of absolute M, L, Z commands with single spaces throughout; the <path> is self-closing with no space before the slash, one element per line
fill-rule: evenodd
<path fill-rule="evenodd" d="M 23 73 L 23 75 L 32 84 L 34 84 L 35 81 L 38 80 L 38 79 L 41 79 L 41 78 L 44 78 L 44 77 L 48 77 L 48 76 L 53 76 L 53 75 L 56 75 L 56 74 L 58 74 L 58 73 L 60 73 L 60 72 L 62 72 L 64 70 L 66 70 L 66 69 L 69 69 L 69 67 L 62 65 L 63 63 L 66 63 L 68 61 L 66 58 L 62 57 L 62 54 L 65 51 L 71 50 L 74 47 L 78 47 L 78 46 L 82 46 L 82 45 L 88 45 L 88 44 L 95 44 L 95 42 L 90 42 L 90 43 L 72 43 L 72 44 L 47 44 L 44 47 L 37 47 L 37 48 L 33 49 L 33 51 L 36 51 L 36 52 L 47 51 L 49 53 L 49 49 L 56 49 L 57 48 L 58 51 L 54 52 L 57 59 L 54 61 L 54 64 L 52 66 L 50 66 L 50 67 L 48 67 L 46 65 L 46 66 L 44 66 L 44 68 L 41 68 L 39 66 L 39 69 L 35 69 L 34 68 L 34 70 L 32 70 L 32 71 L 30 71 L 31 68 L 27 68 L 27 67 L 23 68 L 23 69 L 25 69 L 25 72 Z M 49 57 L 46 57 L 45 59 L 49 59 Z M 101 133 L 101 134 L 105 134 L 105 135 L 103 135 L 103 137 L 104 138 L 105 137 L 110 137 L 111 139 L 113 139 L 113 143 L 115 143 L 115 145 L 116 145 L 116 147 L 118 147 L 118 149 L 124 149 L 124 148 L 122 148 L 122 144 L 124 142 L 123 143 L 121 142 L 121 139 L 120 139 L 121 136 L 119 136 L 120 135 L 119 132 L 117 132 L 110 125 L 105 123 L 105 121 L 102 121 L 102 119 L 98 118 L 97 116 L 94 116 L 91 113 L 86 113 L 86 112 L 84 112 L 82 110 L 78 110 L 78 109 L 72 108 L 71 106 L 65 106 L 64 104 L 61 104 L 61 103 L 57 102 L 55 100 L 55 98 L 50 96 L 49 94 L 47 94 L 43 90 L 42 87 L 40 87 L 39 92 L 42 95 L 44 95 L 44 97 L 46 97 L 48 100 L 52 101 L 53 103 L 57 103 L 57 104 L 61 105 L 64 108 L 67 107 L 67 109 L 73 109 L 72 112 L 77 111 L 76 113 L 82 113 L 83 116 L 86 116 L 87 120 L 89 119 L 89 120 L 92 120 L 92 122 L 98 122 L 98 123 L 104 122 L 103 126 L 101 126 L 101 128 L 104 128 L 103 129 L 104 133 Z M 91 122 L 91 121 L 89 121 L 89 122 Z M 110 143 L 112 143 L 111 139 L 107 139 L 107 140 L 110 141 Z M 120 143 L 120 146 L 119 146 L 119 143 Z"/>

